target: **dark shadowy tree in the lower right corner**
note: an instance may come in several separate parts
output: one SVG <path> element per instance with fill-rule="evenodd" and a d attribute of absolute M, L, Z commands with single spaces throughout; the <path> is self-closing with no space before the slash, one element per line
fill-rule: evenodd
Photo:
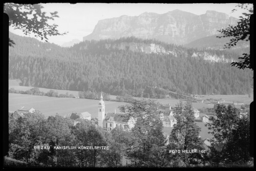
<path fill-rule="evenodd" d="M 207 123 L 211 139 L 211 163 L 216 165 L 227 163 L 246 164 L 249 158 L 250 118 L 249 107 L 241 109 L 231 105 L 217 105 L 217 118 L 210 118 Z"/>

